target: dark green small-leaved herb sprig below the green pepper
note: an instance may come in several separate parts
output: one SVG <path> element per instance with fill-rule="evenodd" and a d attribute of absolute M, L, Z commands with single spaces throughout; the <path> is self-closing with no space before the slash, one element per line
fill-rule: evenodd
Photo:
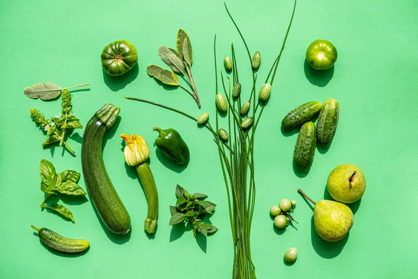
<path fill-rule="evenodd" d="M 190 195 L 180 185 L 176 186 L 176 206 L 170 206 L 171 219 L 169 225 L 187 222 L 193 227 L 194 237 L 201 232 L 204 236 L 217 231 L 217 227 L 208 223 L 202 223 L 205 214 L 213 214 L 216 204 L 204 201 L 208 197 L 205 194 L 194 193 Z"/>

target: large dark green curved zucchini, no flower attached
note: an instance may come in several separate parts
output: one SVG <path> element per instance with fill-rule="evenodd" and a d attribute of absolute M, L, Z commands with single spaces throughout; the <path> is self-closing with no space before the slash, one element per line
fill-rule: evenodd
<path fill-rule="evenodd" d="M 114 105 L 104 105 L 88 121 L 82 143 L 82 167 L 84 180 L 95 209 L 104 225 L 115 234 L 126 234 L 131 220 L 123 202 L 116 193 L 102 158 L 102 140 L 121 109 Z"/>

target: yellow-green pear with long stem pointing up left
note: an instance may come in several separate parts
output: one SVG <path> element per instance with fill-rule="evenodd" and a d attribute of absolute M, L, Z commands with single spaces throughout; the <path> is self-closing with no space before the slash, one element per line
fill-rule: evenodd
<path fill-rule="evenodd" d="M 327 199 L 314 202 L 302 190 L 297 190 L 304 195 L 314 206 L 314 226 L 316 232 L 326 241 L 339 241 L 343 239 L 351 227 L 353 227 L 353 211 L 346 204 Z"/>

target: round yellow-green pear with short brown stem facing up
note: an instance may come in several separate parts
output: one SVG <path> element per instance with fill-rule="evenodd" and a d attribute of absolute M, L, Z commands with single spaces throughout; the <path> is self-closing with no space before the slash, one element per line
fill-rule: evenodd
<path fill-rule="evenodd" d="M 337 202 L 351 204 L 364 194 L 366 179 L 359 167 L 355 165 L 339 165 L 332 169 L 328 176 L 327 189 Z"/>

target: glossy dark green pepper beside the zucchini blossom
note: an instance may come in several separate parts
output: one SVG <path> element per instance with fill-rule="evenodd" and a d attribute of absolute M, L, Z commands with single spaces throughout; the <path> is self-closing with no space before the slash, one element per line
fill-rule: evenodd
<path fill-rule="evenodd" d="M 190 158 L 189 148 L 180 134 L 174 129 L 162 130 L 154 127 L 160 135 L 155 140 L 155 145 L 165 156 L 173 160 L 177 165 L 184 165 Z"/>

